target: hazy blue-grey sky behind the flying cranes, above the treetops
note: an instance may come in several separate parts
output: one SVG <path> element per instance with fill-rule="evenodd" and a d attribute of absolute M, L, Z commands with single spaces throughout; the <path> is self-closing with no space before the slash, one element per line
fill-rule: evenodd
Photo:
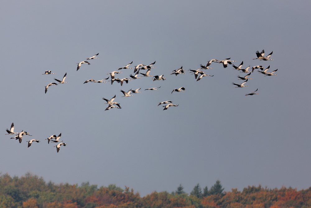
<path fill-rule="evenodd" d="M 217 179 L 225 191 L 248 185 L 311 186 L 309 1 L 16 1 L 0 8 L 2 149 L 0 172 L 55 183 L 129 186 L 142 196 L 190 192 Z M 271 51 L 272 61 L 253 60 Z M 77 71 L 77 64 L 99 53 Z M 213 77 L 169 75 L 208 60 L 270 65 L 277 76 L 246 75 L 212 63 Z M 151 77 L 86 83 L 133 61 L 156 61 Z M 42 75 L 52 70 L 55 75 Z M 123 69 L 117 78 L 129 77 Z M 53 78 L 68 83 L 44 86 Z M 144 71 L 142 71 L 144 73 Z M 160 87 L 159 90 L 146 90 Z M 185 92 L 171 91 L 185 87 Z M 142 88 L 121 97 L 120 90 Z M 244 96 L 258 88 L 253 96 Z M 102 97 L 120 103 L 110 109 Z M 163 111 L 159 102 L 178 107 Z M 22 143 L 4 135 L 29 132 Z M 46 138 L 62 133 L 57 153 Z M 14 135 L 13 135 L 14 136 Z M 27 148 L 30 139 L 41 142 Z"/>

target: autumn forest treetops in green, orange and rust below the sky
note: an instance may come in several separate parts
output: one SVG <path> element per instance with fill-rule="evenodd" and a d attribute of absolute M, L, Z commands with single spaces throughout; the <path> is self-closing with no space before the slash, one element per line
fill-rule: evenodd
<path fill-rule="evenodd" d="M 110 184 L 108 187 L 82 183 L 46 183 L 27 173 L 11 177 L 0 173 L 0 208 L 307 208 L 311 207 L 311 187 L 307 190 L 282 187 L 268 189 L 248 186 L 243 191 L 224 192 L 219 180 L 210 189 L 194 186 L 190 194 L 180 184 L 176 191 L 138 192 Z"/>

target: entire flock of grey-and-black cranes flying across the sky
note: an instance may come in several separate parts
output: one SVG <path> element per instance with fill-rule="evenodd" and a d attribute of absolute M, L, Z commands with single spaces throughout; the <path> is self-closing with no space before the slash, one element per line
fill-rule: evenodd
<path fill-rule="evenodd" d="M 258 60 L 264 60 L 264 61 L 267 61 L 267 60 L 273 60 L 273 59 L 270 59 L 271 56 L 272 56 L 272 53 L 273 51 L 268 55 L 268 56 L 264 56 L 265 54 L 265 51 L 262 50 L 261 52 L 259 51 L 256 51 L 256 56 L 257 58 L 255 59 L 258 59 Z M 98 59 L 98 54 L 90 57 L 90 58 L 87 58 L 86 60 L 92 60 L 92 59 Z M 253 59 L 253 60 L 255 60 Z M 243 61 L 242 63 L 239 65 L 239 66 L 235 66 L 232 62 L 235 62 L 234 60 L 230 60 L 230 58 L 227 58 L 227 59 L 223 59 L 223 60 L 216 60 L 216 59 L 212 59 L 212 60 L 209 60 L 207 61 L 207 65 L 200 65 L 200 68 L 197 69 L 197 70 L 191 70 L 189 69 L 188 71 L 190 71 L 190 73 L 194 74 L 194 77 L 197 81 L 201 80 L 203 77 L 205 76 L 214 76 L 214 75 L 207 75 L 205 71 L 203 70 L 207 70 L 207 69 L 212 69 L 212 68 L 209 68 L 209 66 L 212 64 L 212 62 L 214 63 L 222 63 L 223 67 L 224 68 L 227 68 L 228 64 L 232 65 L 233 66 L 233 69 L 235 70 L 240 70 L 240 72 L 242 73 L 248 73 L 247 75 L 245 76 L 239 76 L 238 75 L 238 80 L 244 80 L 243 83 L 241 84 L 235 84 L 234 82 L 232 82 L 233 85 L 236 85 L 236 87 L 239 87 L 239 88 L 242 88 L 242 87 L 247 87 L 247 85 L 245 85 L 249 79 L 252 79 L 252 78 L 248 78 L 248 76 L 251 75 L 251 73 L 254 72 L 255 69 L 258 69 L 258 73 L 260 74 L 264 74 L 265 76 L 272 76 L 272 75 L 276 75 L 274 74 L 276 70 L 272 71 L 272 72 L 267 72 L 270 68 L 270 65 L 264 70 L 264 67 L 262 65 L 257 65 L 257 66 L 253 66 L 251 69 L 252 70 L 249 70 L 250 69 L 250 66 L 246 67 L 245 69 L 242 68 L 243 66 Z M 155 68 L 153 65 L 155 65 L 156 61 L 151 63 L 150 65 L 143 65 L 143 64 L 138 64 L 136 66 L 134 66 L 134 72 L 135 73 L 134 75 L 130 74 L 130 78 L 123 78 L 123 79 L 119 79 L 119 78 L 116 78 L 115 76 L 122 73 L 121 71 L 119 70 L 123 70 L 123 69 L 132 69 L 130 68 L 129 66 L 132 64 L 133 62 L 129 63 L 128 65 L 125 65 L 124 67 L 120 67 L 118 68 L 118 71 L 113 71 L 113 72 L 110 72 L 108 73 L 107 75 L 110 75 L 110 82 L 111 82 L 111 85 L 114 83 L 114 82 L 117 82 L 119 84 L 121 84 L 121 86 L 123 85 L 123 83 L 125 82 L 126 84 L 128 84 L 128 81 L 130 80 L 136 80 L 136 79 L 142 79 L 142 77 L 152 77 L 153 78 L 153 81 L 156 81 L 156 80 L 166 80 L 164 75 L 156 75 L 156 76 L 152 76 L 152 75 L 149 75 L 149 73 L 151 72 L 151 69 L 152 68 Z M 82 64 L 88 64 L 88 65 L 91 65 L 88 61 L 81 61 L 80 63 L 77 63 L 77 71 L 81 68 L 81 65 Z M 260 69 L 260 70 L 259 70 Z M 146 73 L 141 73 L 141 70 L 147 70 Z M 249 70 L 249 71 L 248 71 Z M 49 71 L 45 71 L 45 73 L 43 75 L 50 75 L 50 74 L 55 74 L 55 73 L 52 73 L 50 70 Z M 180 68 L 176 69 L 176 70 L 173 70 L 172 73 L 170 75 L 180 75 L 180 74 L 185 74 L 185 70 L 183 70 L 183 66 L 181 66 Z M 138 77 L 139 75 L 142 75 L 140 77 Z M 56 78 L 54 78 L 55 81 L 57 81 L 58 83 L 56 82 L 52 82 L 45 87 L 45 93 L 47 93 L 48 91 L 48 87 L 49 86 L 52 86 L 52 85 L 58 85 L 58 84 L 64 84 L 64 83 L 67 83 L 65 82 L 65 78 L 67 76 L 67 73 L 65 73 L 65 75 L 63 76 L 63 79 L 62 80 L 58 80 Z M 103 79 L 103 80 L 93 80 L 93 79 L 90 79 L 90 80 L 86 80 L 83 84 L 86 84 L 88 82 L 97 82 L 97 83 L 106 83 L 104 80 L 108 80 L 108 78 L 106 79 Z M 161 87 L 161 86 L 160 86 Z M 159 90 L 160 87 L 153 87 L 153 88 L 148 88 L 148 89 L 145 89 L 145 90 Z M 126 91 L 123 91 L 123 90 L 120 90 L 124 96 L 122 97 L 130 97 L 130 96 L 133 96 L 133 94 L 137 94 L 137 93 L 142 93 L 142 92 L 139 92 L 138 90 L 140 90 L 141 88 L 138 88 L 138 89 L 130 89 L 128 90 L 127 92 Z M 173 89 L 173 91 L 171 92 L 171 94 L 173 94 L 173 92 L 183 92 L 185 91 L 186 89 L 184 87 L 180 87 L 178 89 Z M 249 94 L 245 94 L 245 96 L 247 95 L 254 95 L 254 94 L 258 94 L 256 93 L 258 90 L 258 88 L 253 91 L 252 93 L 249 93 Z M 108 107 L 105 109 L 105 110 L 109 110 L 109 109 L 112 109 L 112 108 L 118 108 L 118 109 L 121 109 L 121 106 L 120 106 L 120 103 L 117 103 L 117 102 L 114 102 L 114 99 L 116 98 L 116 95 L 114 95 L 114 97 L 112 97 L 111 99 L 105 99 L 105 98 L 102 98 L 103 100 L 106 101 L 105 104 L 108 104 Z M 158 106 L 161 105 L 161 104 L 166 104 L 164 107 L 163 110 L 167 110 L 169 107 L 171 106 L 179 106 L 178 104 L 172 104 L 173 102 L 170 101 L 170 100 L 167 100 L 167 101 L 163 101 L 163 102 L 159 102 Z M 19 143 L 21 143 L 22 141 L 22 138 L 23 138 L 23 135 L 29 135 L 29 136 L 32 136 L 30 135 L 29 133 L 27 133 L 26 131 L 21 131 L 21 132 L 14 132 L 14 123 L 11 124 L 11 128 L 10 130 L 6 129 L 7 131 L 7 134 L 16 134 L 15 137 L 12 137 L 11 139 L 18 139 L 19 140 Z M 48 140 L 48 144 L 50 142 L 53 142 L 53 143 L 58 143 L 56 146 L 56 149 L 57 149 L 57 152 L 59 151 L 60 149 L 60 146 L 63 145 L 63 146 L 66 146 L 67 144 L 66 143 L 62 143 L 63 141 L 59 141 L 59 138 L 61 137 L 61 133 L 56 136 L 56 135 L 52 135 L 50 136 L 49 138 L 47 138 L 46 140 Z M 54 140 L 53 140 L 54 139 Z M 32 142 L 37 142 L 39 143 L 40 141 L 39 140 L 36 140 L 36 139 L 31 139 L 30 141 L 27 141 L 28 142 L 28 147 L 31 146 Z"/>

